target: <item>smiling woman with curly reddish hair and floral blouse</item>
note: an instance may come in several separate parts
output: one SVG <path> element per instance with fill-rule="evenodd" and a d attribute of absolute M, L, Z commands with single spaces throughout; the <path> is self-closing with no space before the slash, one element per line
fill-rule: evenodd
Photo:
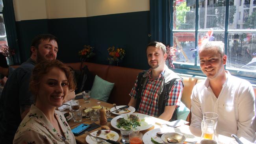
<path fill-rule="evenodd" d="M 75 144 L 65 116 L 56 111 L 76 87 L 69 67 L 58 60 L 38 63 L 31 76 L 35 104 L 20 123 L 13 144 Z"/>

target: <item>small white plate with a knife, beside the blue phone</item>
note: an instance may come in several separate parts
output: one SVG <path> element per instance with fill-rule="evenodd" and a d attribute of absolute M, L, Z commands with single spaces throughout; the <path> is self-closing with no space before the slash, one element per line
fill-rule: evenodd
<path fill-rule="evenodd" d="M 107 133 L 105 133 L 105 131 L 107 131 L 107 130 L 101 130 L 101 133 L 100 133 L 100 135 L 99 135 L 98 137 L 108 139 L 108 138 L 107 138 Z M 110 140 L 117 141 L 117 140 L 119 139 L 119 135 L 118 135 L 117 132 L 115 132 L 115 131 L 110 131 L 109 133 L 113 133 L 113 134 L 115 135 L 114 137 L 109 138 Z M 96 134 L 97 134 L 97 131 L 93 131 L 93 132 L 91 133 L 91 135 L 93 135 L 93 136 L 95 136 L 95 137 L 96 137 Z M 95 138 L 89 136 L 89 135 L 86 136 L 85 140 L 86 140 L 86 142 L 87 142 L 88 144 L 97 144 L 97 140 L 96 140 Z M 104 143 L 108 143 L 108 142 L 104 142 Z"/>

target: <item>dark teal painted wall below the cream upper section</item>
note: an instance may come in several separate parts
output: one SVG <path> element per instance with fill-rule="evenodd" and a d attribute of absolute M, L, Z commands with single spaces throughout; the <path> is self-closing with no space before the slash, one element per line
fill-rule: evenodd
<path fill-rule="evenodd" d="M 21 61 L 30 57 L 30 42 L 41 33 L 52 33 L 59 39 L 57 59 L 65 63 L 79 62 L 83 45 L 95 47 L 93 63 L 108 64 L 107 49 L 126 50 L 121 66 L 147 69 L 145 47 L 150 42 L 149 11 L 120 13 L 83 18 L 58 18 L 17 21 Z"/>

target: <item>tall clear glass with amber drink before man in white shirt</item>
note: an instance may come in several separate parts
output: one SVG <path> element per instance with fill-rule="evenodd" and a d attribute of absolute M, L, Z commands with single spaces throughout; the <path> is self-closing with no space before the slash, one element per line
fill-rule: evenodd
<path fill-rule="evenodd" d="M 212 113 L 212 112 L 204 113 L 202 124 L 201 124 L 202 140 L 211 139 L 211 140 L 218 141 L 217 133 L 216 133 L 218 116 L 219 115 L 217 113 Z"/>

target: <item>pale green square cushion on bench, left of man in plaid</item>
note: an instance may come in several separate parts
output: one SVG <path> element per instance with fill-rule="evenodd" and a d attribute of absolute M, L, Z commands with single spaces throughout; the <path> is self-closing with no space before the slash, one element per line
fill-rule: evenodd
<path fill-rule="evenodd" d="M 107 102 L 114 84 L 96 75 L 91 88 L 91 98 Z"/>

